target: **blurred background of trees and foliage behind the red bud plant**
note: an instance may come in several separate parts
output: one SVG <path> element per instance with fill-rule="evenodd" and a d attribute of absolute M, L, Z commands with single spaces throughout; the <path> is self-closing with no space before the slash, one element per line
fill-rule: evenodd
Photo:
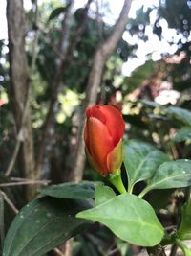
<path fill-rule="evenodd" d="M 89 0 L 76 8 L 72 0 L 32 0 L 28 10 L 22 1 L 8 1 L 9 44 L 0 41 L 1 242 L 17 209 L 35 198 L 39 187 L 101 179 L 83 150 L 88 105 L 121 110 L 126 138 L 149 142 L 171 159 L 191 157 L 191 1 L 142 6 L 126 23 L 130 2 L 125 1 L 123 37 L 112 37 L 109 1 Z M 154 35 L 170 52 L 163 49 L 158 60 L 148 53 L 145 63 L 125 76 L 124 63 L 137 58 L 140 45 Z M 176 225 L 181 190 L 169 191 L 169 198 L 162 193 L 149 194 L 149 200 L 163 222 Z M 64 246 L 60 250 L 72 255 Z M 138 252 L 98 224 L 73 243 L 73 255 Z"/>

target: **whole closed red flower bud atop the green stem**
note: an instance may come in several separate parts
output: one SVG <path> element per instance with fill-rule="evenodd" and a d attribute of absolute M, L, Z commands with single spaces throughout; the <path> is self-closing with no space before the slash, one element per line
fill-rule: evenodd
<path fill-rule="evenodd" d="M 122 115 L 114 106 L 93 105 L 87 108 L 86 116 L 84 140 L 88 159 L 101 175 L 113 174 L 122 164 Z"/>

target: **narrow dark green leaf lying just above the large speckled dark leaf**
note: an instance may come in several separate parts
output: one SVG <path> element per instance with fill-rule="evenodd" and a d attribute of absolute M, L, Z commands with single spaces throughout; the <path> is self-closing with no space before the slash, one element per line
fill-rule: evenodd
<path fill-rule="evenodd" d="M 54 198 L 88 199 L 95 198 L 95 187 L 98 182 L 81 181 L 67 182 L 59 185 L 47 186 L 40 191 L 41 194 Z"/>

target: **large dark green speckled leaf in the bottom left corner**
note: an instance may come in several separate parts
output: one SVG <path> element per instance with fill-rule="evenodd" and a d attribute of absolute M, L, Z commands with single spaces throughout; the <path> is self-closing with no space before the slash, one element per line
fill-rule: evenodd
<path fill-rule="evenodd" d="M 85 228 L 88 222 L 76 219 L 75 215 L 89 207 L 84 200 L 33 200 L 12 221 L 3 255 L 42 256 Z"/>

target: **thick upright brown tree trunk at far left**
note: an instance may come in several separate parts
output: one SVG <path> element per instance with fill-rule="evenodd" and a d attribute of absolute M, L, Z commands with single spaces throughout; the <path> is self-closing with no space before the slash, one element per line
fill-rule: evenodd
<path fill-rule="evenodd" d="M 17 134 L 22 140 L 18 153 L 20 175 L 33 178 L 34 157 L 32 145 L 32 122 L 30 105 L 28 104 L 29 75 L 25 53 L 25 16 L 22 0 L 8 0 L 7 20 L 10 58 L 10 99 Z M 25 118 L 23 119 L 23 115 Z M 27 198 L 32 198 L 34 191 L 27 189 Z"/>

